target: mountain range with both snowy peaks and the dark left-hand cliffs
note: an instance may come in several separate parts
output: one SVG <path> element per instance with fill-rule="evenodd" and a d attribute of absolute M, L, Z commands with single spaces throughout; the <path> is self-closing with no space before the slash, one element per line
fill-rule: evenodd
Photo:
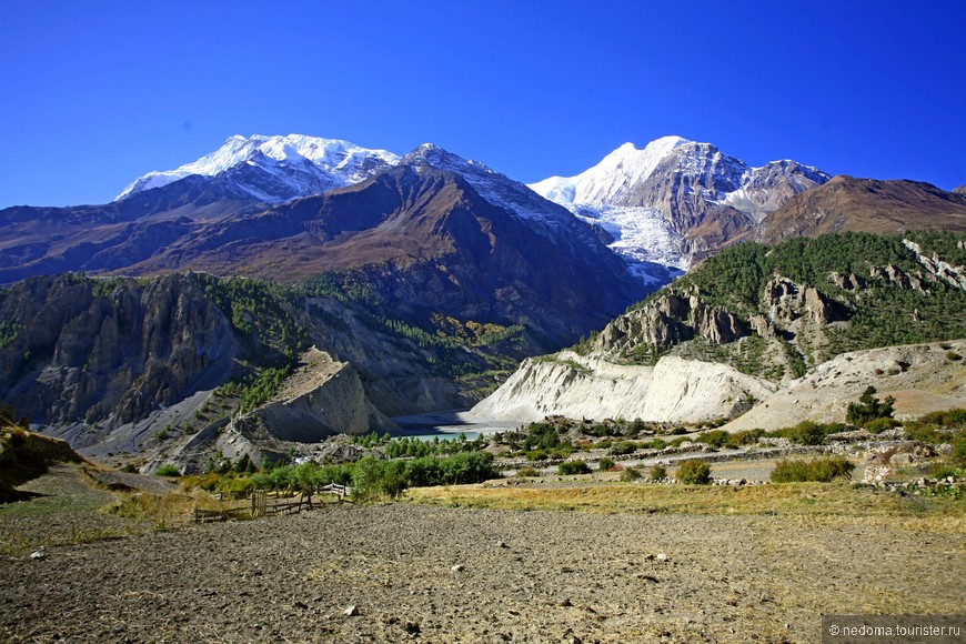
<path fill-rule="evenodd" d="M 753 168 L 676 137 L 531 185 L 432 144 L 400 157 L 232 137 L 111 203 L 0 211 L 0 398 L 74 444 L 131 450 L 172 417 L 208 419 L 212 401 L 242 413 L 278 374 L 322 364 L 320 382 L 340 384 L 300 394 L 315 426 L 335 431 L 326 414 L 349 396 L 336 416 L 353 431 L 388 429 L 388 415 L 470 406 L 515 361 L 623 324 L 723 249 L 757 248 L 737 242 L 909 230 L 966 230 L 966 194 Z M 68 272 L 98 278 L 44 276 Z M 749 319 L 732 329 L 697 309 L 693 334 L 747 335 Z M 323 358 L 298 366 L 310 346 Z M 248 393 L 212 393 L 227 383 Z M 231 427 L 262 435 L 289 413 Z"/>

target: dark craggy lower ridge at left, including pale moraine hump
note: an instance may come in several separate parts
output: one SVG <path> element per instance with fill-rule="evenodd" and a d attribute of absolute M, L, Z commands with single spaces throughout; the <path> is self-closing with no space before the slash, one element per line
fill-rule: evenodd
<path fill-rule="evenodd" d="M 0 399 L 99 459 L 198 466 L 233 449 L 261 462 L 392 429 L 390 414 L 466 406 L 521 355 L 522 330 L 499 331 L 434 336 L 366 302 L 245 279 L 34 278 L 0 292 Z"/>

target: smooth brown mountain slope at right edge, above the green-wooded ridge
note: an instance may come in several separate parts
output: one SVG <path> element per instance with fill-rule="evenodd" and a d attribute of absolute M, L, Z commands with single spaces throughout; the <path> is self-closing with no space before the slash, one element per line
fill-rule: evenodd
<path fill-rule="evenodd" d="M 829 232 L 896 233 L 966 230 L 966 194 L 917 181 L 879 181 L 847 175 L 793 197 L 758 230 L 765 243 Z"/>

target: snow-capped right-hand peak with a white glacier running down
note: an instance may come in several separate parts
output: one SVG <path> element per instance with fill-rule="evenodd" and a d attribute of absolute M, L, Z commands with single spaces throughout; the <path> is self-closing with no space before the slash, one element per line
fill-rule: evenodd
<path fill-rule="evenodd" d="M 828 179 L 794 161 L 752 168 L 710 143 L 664 137 L 643 150 L 625 143 L 576 177 L 530 188 L 607 230 L 616 252 L 686 270 L 694 255 L 741 239 Z"/>

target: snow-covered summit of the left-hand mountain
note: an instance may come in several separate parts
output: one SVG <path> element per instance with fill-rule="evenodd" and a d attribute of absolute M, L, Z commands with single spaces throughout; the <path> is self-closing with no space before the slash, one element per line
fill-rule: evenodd
<path fill-rule="evenodd" d="M 194 175 L 219 178 L 234 197 L 280 203 L 359 183 L 395 165 L 399 159 L 385 150 L 338 139 L 234 135 L 197 161 L 138 178 L 117 200 Z"/>

